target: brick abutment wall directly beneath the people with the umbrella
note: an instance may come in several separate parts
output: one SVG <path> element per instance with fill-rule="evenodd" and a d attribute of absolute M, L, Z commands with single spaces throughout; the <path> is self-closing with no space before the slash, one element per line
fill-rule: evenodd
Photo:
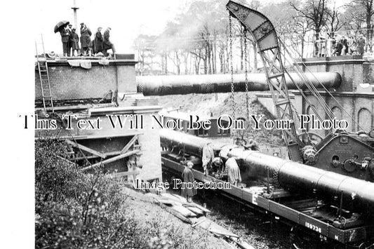
<path fill-rule="evenodd" d="M 136 93 L 135 60 L 110 60 L 108 66 L 91 62 L 91 69 L 71 67 L 65 62 L 48 62 L 53 100 L 100 98 L 116 90 Z M 35 100 L 41 100 L 39 72 L 35 70 Z"/>

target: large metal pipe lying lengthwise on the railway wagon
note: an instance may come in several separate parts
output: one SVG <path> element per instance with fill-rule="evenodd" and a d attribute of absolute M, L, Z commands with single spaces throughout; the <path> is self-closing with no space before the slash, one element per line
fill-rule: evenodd
<path fill-rule="evenodd" d="M 249 167 L 251 171 L 255 169 L 262 175 L 267 174 L 269 168 L 272 175 L 277 175 L 279 185 L 285 189 L 295 189 L 335 203 L 343 196 L 343 204 L 350 210 L 363 210 L 374 206 L 374 183 L 372 182 L 174 130 L 160 130 L 160 137 L 161 144 L 171 146 L 180 144 L 185 146 L 186 152 L 192 151 L 194 154 L 201 153 L 203 145 L 208 142 L 211 142 L 216 151 L 230 148 L 228 156 L 234 156 L 236 161 L 240 162 L 241 167 Z"/>

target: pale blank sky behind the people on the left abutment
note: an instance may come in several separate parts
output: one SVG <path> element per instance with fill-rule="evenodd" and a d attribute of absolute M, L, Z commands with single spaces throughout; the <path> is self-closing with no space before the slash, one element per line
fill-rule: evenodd
<path fill-rule="evenodd" d="M 73 1 L 39 0 L 36 6 L 36 34 L 43 34 L 46 52 L 62 53 L 61 36 L 53 28 L 60 20 L 74 26 Z M 95 34 L 111 27 L 110 39 L 117 53 L 134 53 L 133 40 L 138 34 L 160 34 L 168 20 L 173 20 L 191 0 L 76 0 L 78 26 L 84 22 Z M 77 28 L 77 33 L 79 34 Z M 93 37 L 93 36 L 91 36 Z"/>

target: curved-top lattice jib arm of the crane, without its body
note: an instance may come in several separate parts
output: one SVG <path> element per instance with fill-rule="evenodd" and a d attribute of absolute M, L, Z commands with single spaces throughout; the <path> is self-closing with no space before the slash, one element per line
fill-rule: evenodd
<path fill-rule="evenodd" d="M 276 30 L 269 19 L 262 13 L 255 11 L 245 4 L 229 1 L 226 5 L 230 16 L 241 22 L 247 32 L 253 36 L 257 43 L 260 58 L 264 65 L 267 84 L 272 93 L 276 115 L 282 120 L 291 120 L 289 130 L 281 130 L 283 140 L 288 147 L 290 159 L 302 161 L 301 146 L 303 142 L 296 132 L 294 111 L 291 106 L 288 88 L 286 85 L 286 73 L 281 58 L 281 48 Z"/>

